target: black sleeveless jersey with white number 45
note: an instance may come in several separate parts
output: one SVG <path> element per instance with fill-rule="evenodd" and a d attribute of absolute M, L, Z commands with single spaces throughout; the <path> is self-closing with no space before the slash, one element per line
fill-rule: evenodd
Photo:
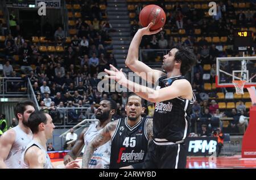
<path fill-rule="evenodd" d="M 134 127 L 130 127 L 127 124 L 127 118 L 118 119 L 118 124 L 111 140 L 109 168 L 117 169 L 143 162 L 148 146 L 147 120 L 147 118 L 141 118 Z"/>

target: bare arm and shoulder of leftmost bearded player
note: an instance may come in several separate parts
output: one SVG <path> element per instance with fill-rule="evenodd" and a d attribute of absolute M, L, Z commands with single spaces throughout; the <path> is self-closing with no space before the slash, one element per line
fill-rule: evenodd
<path fill-rule="evenodd" d="M 11 146 L 15 141 L 15 136 L 16 136 L 15 131 L 11 129 L 10 131 L 3 133 L 3 135 L 0 138 L 0 168 L 1 169 L 7 168 L 5 164 L 5 160 L 11 150 Z"/>

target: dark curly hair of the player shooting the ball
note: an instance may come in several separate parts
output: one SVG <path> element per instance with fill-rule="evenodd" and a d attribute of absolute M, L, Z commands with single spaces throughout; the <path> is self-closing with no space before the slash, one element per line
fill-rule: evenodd
<path fill-rule="evenodd" d="M 174 48 L 179 50 L 175 53 L 175 61 L 181 61 L 180 73 L 185 75 L 196 64 L 196 56 L 191 48 L 177 46 L 172 49 Z"/>

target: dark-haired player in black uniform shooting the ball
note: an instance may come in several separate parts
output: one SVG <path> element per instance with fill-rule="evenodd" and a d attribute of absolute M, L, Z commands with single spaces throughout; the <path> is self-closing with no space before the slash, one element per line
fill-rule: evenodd
<path fill-rule="evenodd" d="M 191 83 L 185 79 L 184 74 L 195 64 L 196 57 L 190 49 L 172 48 L 163 56 L 162 68 L 166 73 L 151 69 L 139 61 L 142 36 L 162 31 L 162 28 L 150 31 L 152 25 L 151 22 L 137 31 L 131 41 L 125 64 L 147 82 L 158 85 L 156 89 L 129 81 L 122 69 L 118 70 L 113 65 L 110 65 L 111 70 L 105 69 L 109 74 L 106 77 L 115 79 L 140 97 L 156 103 L 153 118 L 154 143 L 148 147 L 143 168 L 185 168 L 187 149 L 184 141 L 189 133 L 191 108 L 196 98 Z"/>

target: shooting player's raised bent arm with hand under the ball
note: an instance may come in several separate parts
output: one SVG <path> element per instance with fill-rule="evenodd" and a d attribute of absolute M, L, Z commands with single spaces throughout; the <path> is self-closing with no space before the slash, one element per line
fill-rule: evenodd
<path fill-rule="evenodd" d="M 150 27 L 152 25 L 153 25 L 153 23 L 150 23 L 150 24 L 148 24 L 147 27 L 144 27 L 137 31 L 137 33 L 133 37 L 133 40 L 131 41 L 125 64 L 133 72 L 138 74 L 138 76 L 142 77 L 147 82 L 155 83 L 156 80 L 160 76 L 163 76 L 165 73 L 163 73 L 160 70 L 151 69 L 149 66 L 144 64 L 142 61 L 139 61 L 139 44 L 141 44 L 142 36 L 157 34 L 158 32 L 160 32 L 162 30 L 162 28 L 160 28 L 159 30 L 150 31 Z"/>

